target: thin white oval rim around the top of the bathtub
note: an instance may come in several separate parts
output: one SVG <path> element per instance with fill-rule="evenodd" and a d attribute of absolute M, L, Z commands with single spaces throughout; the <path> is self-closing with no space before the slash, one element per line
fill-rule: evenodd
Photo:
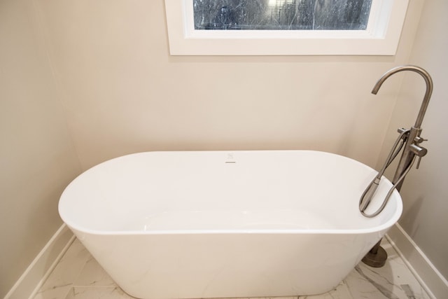
<path fill-rule="evenodd" d="M 300 149 L 293 149 L 293 150 L 218 150 L 218 151 L 142 151 L 137 153 L 130 153 L 126 155 L 120 155 L 116 158 L 112 158 L 109 160 L 106 160 L 104 162 L 100 162 L 97 165 L 94 165 L 90 167 L 89 169 L 86 169 L 84 172 L 76 176 L 75 179 L 73 179 L 69 185 L 66 186 L 64 191 L 62 192 L 62 195 L 59 197 L 58 201 L 58 212 L 60 218 L 62 218 L 62 221 L 66 223 L 66 225 L 69 226 L 72 230 L 76 230 L 78 232 L 82 232 L 85 234 L 90 235 L 211 235 L 211 234 L 316 234 L 316 235 L 328 235 L 328 234 L 337 234 L 337 235 L 360 235 L 360 234 L 370 234 L 375 232 L 386 232 L 389 228 L 391 228 L 395 223 L 398 222 L 402 215 L 403 205 L 402 205 L 402 198 L 400 196 L 400 193 L 398 190 L 393 190 L 391 200 L 389 200 L 388 204 L 395 203 L 395 211 L 393 212 L 393 215 L 391 218 L 388 218 L 384 223 L 381 223 L 380 225 L 373 226 L 371 228 L 352 228 L 352 229 L 256 229 L 256 230 L 247 230 L 247 229 L 232 229 L 232 230 L 92 230 L 90 228 L 85 228 L 82 225 L 77 225 L 76 223 L 73 223 L 74 221 L 69 221 L 64 216 L 62 216 L 61 213 L 61 206 L 62 206 L 62 197 L 64 196 L 64 193 L 66 193 L 66 190 L 69 189 L 69 186 L 73 184 L 80 176 L 82 176 L 85 172 L 90 172 L 92 169 L 95 169 L 97 167 L 100 167 L 101 165 L 104 165 L 105 163 L 111 162 L 113 160 L 119 160 L 121 158 L 130 157 L 133 155 L 143 155 L 148 153 L 202 153 L 202 152 L 210 152 L 210 153 L 250 153 L 250 152 L 314 152 L 314 153 L 320 153 L 325 155 L 333 155 L 337 156 L 338 158 L 351 160 L 352 162 L 356 162 L 356 164 L 360 165 L 360 167 L 365 167 L 366 169 L 370 169 L 376 172 L 375 169 L 372 169 L 372 167 L 365 165 L 363 162 L 360 162 L 358 160 L 355 160 L 353 158 L 346 157 L 344 155 L 339 155 L 336 153 L 329 153 L 325 151 L 314 151 L 314 150 L 300 150 Z M 385 177 L 382 176 L 381 180 L 385 180 L 385 183 L 388 186 L 392 186 L 392 183 Z M 378 215 L 380 216 L 381 213 Z M 376 216 L 376 217 L 378 217 Z"/>

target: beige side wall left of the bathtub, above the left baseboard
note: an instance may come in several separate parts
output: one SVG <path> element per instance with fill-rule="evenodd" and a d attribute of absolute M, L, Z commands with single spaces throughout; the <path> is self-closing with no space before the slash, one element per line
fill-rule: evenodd
<path fill-rule="evenodd" d="M 80 166 L 31 1 L 0 1 L 0 298 L 62 224 Z"/>

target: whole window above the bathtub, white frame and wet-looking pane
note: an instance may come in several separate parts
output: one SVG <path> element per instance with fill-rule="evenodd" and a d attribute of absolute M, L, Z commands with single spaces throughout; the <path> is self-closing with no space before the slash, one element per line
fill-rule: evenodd
<path fill-rule="evenodd" d="M 165 0 L 172 55 L 395 55 L 408 0 Z"/>

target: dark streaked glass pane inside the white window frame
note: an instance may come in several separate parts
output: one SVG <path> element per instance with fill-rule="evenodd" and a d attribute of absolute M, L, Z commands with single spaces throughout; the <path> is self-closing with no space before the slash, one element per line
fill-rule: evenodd
<path fill-rule="evenodd" d="M 196 30 L 365 30 L 372 0 L 193 0 Z"/>

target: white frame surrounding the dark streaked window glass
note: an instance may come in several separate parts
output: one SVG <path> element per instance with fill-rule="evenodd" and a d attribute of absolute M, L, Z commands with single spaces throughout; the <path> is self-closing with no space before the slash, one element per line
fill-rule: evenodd
<path fill-rule="evenodd" d="M 372 0 L 365 30 L 195 30 L 193 0 L 165 0 L 171 55 L 395 55 L 409 0 Z"/>

